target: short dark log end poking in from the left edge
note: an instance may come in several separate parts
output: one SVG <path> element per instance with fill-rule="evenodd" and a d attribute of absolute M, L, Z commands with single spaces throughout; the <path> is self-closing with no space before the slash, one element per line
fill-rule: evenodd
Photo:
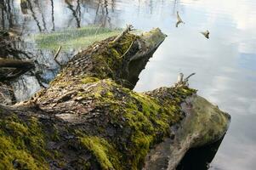
<path fill-rule="evenodd" d="M 31 60 L 0 58 L 0 80 L 12 80 L 14 78 L 20 77 L 34 67 L 34 62 Z"/>

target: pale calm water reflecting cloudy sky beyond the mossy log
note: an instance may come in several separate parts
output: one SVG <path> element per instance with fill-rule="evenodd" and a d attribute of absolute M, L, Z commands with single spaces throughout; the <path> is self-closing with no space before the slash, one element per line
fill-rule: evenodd
<path fill-rule="evenodd" d="M 1 0 L 3 2 L 3 0 Z M 40 31 L 99 25 L 140 30 L 160 27 L 168 35 L 140 75 L 136 91 L 171 86 L 180 71 L 198 94 L 232 116 L 230 129 L 209 165 L 218 170 L 256 168 L 256 1 L 254 0 L 5 0 L 3 28 L 22 37 Z M 176 11 L 185 25 L 175 27 Z M 200 31 L 210 31 L 206 39 Z M 48 56 L 48 55 L 46 55 Z M 49 57 L 39 59 L 47 64 Z M 55 64 L 52 74 L 56 74 Z M 50 76 L 49 76 L 50 75 Z M 40 88 L 33 78 L 30 83 Z M 25 82 L 29 82 L 25 80 Z M 35 85 L 37 84 L 37 85 Z M 27 87 L 26 87 L 27 88 Z M 33 88 L 30 93 L 36 91 Z"/>

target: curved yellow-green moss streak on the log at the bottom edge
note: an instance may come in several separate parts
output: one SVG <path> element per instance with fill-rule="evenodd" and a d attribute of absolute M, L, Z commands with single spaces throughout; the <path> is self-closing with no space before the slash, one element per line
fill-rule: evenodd
<path fill-rule="evenodd" d="M 115 148 L 105 139 L 87 136 L 80 139 L 82 145 L 92 152 L 102 169 L 120 169 L 121 165 Z"/>

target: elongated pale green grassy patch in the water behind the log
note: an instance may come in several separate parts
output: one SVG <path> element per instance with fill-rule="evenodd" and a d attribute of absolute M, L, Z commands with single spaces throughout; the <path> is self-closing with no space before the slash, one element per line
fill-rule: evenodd
<path fill-rule="evenodd" d="M 87 48 L 93 42 L 118 35 L 122 29 L 110 29 L 99 26 L 86 26 L 79 29 L 67 29 L 53 33 L 41 33 L 32 38 L 39 48 L 56 50 L 60 46 L 67 51 L 71 48 Z"/>

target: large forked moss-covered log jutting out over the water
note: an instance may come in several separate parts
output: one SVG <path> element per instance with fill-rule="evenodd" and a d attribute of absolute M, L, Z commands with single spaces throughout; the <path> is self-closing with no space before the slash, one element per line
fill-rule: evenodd
<path fill-rule="evenodd" d="M 0 106 L 0 169 L 141 169 L 166 139 L 180 147 L 169 153 L 177 156 L 168 160 L 174 168 L 185 150 L 221 138 L 229 116 L 195 97 L 195 89 L 132 90 L 165 37 L 154 29 L 95 42 L 49 88 Z"/>

